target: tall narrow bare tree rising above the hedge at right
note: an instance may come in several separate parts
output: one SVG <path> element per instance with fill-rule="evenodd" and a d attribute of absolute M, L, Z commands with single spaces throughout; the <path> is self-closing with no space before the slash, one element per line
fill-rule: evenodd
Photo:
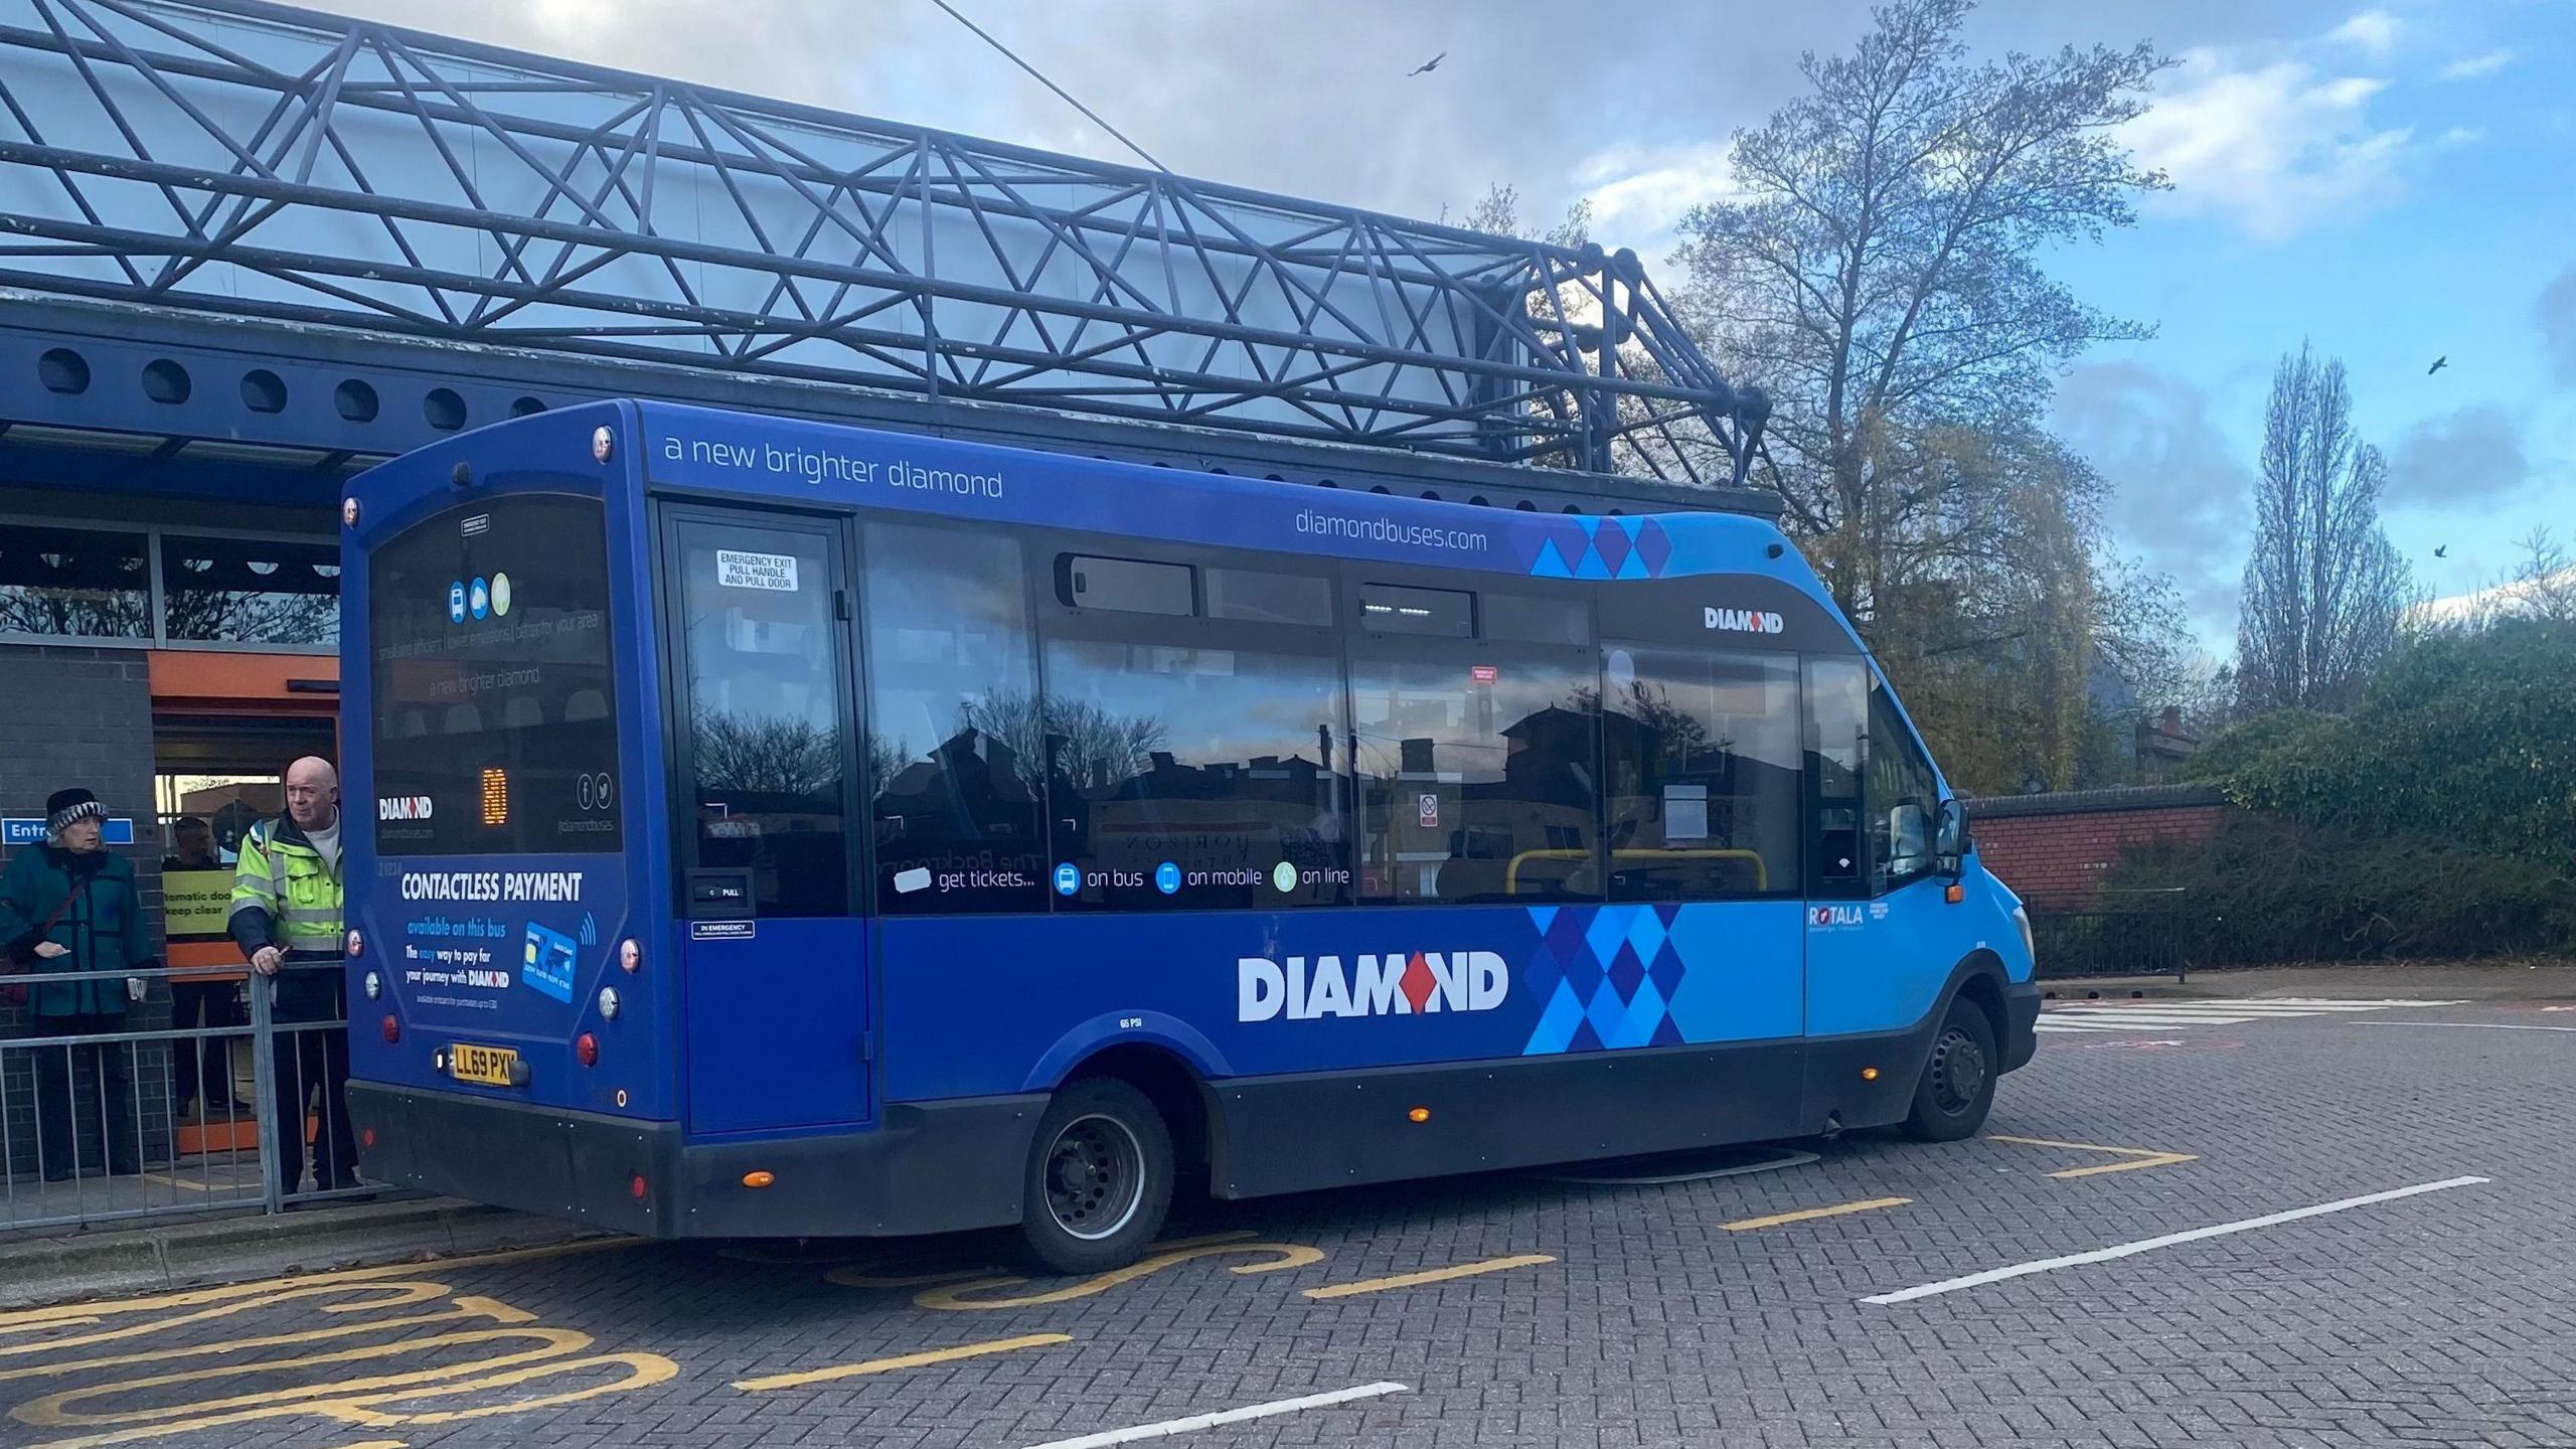
<path fill-rule="evenodd" d="M 2254 554 L 2236 624 L 2246 709 L 2344 709 L 2398 642 L 2414 583 L 2380 529 L 2388 462 L 2352 431 L 2342 361 L 2272 371 Z"/>

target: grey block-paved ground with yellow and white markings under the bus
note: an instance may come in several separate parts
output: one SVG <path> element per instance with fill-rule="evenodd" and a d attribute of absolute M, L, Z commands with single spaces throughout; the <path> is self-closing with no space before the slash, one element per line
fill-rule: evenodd
<path fill-rule="evenodd" d="M 1412 1392 L 1177 1444 L 2576 1444 L 2576 1034 L 2391 1026 L 2432 1018 L 2576 1024 L 2481 1003 L 2205 1026 L 2184 1047 L 2050 1036 L 2007 1080 L 1994 1132 L 2197 1158 L 2050 1178 L 2117 1158 L 1865 1137 L 1814 1165 L 1677 1186 L 1319 1194 L 1200 1212 L 1175 1232 L 1249 1238 L 1025 1307 L 935 1310 L 914 1294 L 940 1284 L 827 1281 L 842 1258 L 842 1276 L 992 1261 L 987 1240 L 943 1240 L 809 1261 L 641 1245 L 270 1284 L 95 1323 L 0 1315 L 0 1441 L 1018 1449 L 1396 1379 Z M 2494 1183 L 1860 1302 L 2463 1173 Z M 1911 1201 L 1723 1227 L 1878 1196 Z M 1231 1271 L 1283 1261 L 1257 1245 L 1321 1258 Z M 1512 1253 L 1556 1261 L 1301 1297 Z M 734 1387 L 1048 1333 L 1069 1341 Z M 229 1348 L 185 1354 L 211 1346 Z M 629 1377 L 659 1382 L 613 1387 Z M 456 1392 L 422 1392 L 438 1387 Z M 600 1392 L 549 1403 L 582 1390 Z"/>

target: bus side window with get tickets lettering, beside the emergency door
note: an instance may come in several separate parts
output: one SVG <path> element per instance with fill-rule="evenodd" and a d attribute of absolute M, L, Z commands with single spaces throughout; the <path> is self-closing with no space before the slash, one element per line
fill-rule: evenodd
<path fill-rule="evenodd" d="M 1046 740 L 1020 541 L 868 523 L 866 544 L 876 908 L 1043 913 Z"/>

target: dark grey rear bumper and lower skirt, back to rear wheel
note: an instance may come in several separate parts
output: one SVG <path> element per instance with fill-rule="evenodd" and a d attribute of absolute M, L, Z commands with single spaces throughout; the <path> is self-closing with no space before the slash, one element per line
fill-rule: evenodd
<path fill-rule="evenodd" d="M 1046 1093 L 896 1104 L 868 1129 L 690 1142 L 677 1122 L 348 1083 L 371 1181 L 641 1238 L 891 1238 L 1020 1222 Z M 768 1173 L 768 1186 L 747 1186 Z"/>

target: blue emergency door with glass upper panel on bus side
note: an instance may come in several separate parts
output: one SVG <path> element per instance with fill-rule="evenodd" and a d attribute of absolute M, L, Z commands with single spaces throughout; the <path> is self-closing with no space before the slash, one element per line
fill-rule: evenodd
<path fill-rule="evenodd" d="M 866 1122 L 871 923 L 842 526 L 662 513 L 690 1132 Z"/>

